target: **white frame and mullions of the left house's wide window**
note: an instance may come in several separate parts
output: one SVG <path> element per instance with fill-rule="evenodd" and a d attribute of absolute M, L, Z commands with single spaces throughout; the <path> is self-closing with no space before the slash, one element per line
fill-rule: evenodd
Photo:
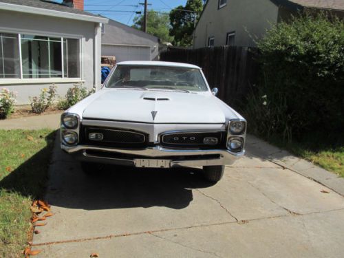
<path fill-rule="evenodd" d="M 77 83 L 84 81 L 84 73 L 83 73 L 83 60 L 84 60 L 84 43 L 83 43 L 83 35 L 80 34 L 60 34 L 60 33 L 52 33 L 47 32 L 43 33 L 41 31 L 36 30 L 13 30 L 10 28 L 4 28 L 0 26 L 0 32 L 7 33 L 7 34 L 16 34 L 18 36 L 18 43 L 19 43 L 19 62 L 20 62 L 20 76 L 19 78 L 0 78 L 0 85 L 5 84 L 23 84 L 23 83 Z M 62 60 L 62 77 L 52 77 L 52 78 L 23 78 L 23 60 L 22 60 L 22 50 L 21 50 L 21 36 L 22 34 L 30 34 L 34 36 L 47 36 L 47 37 L 54 37 L 61 39 L 61 60 Z M 64 74 L 64 67 L 63 67 L 63 39 L 77 39 L 79 41 L 79 65 L 80 65 L 80 74 L 78 78 L 67 78 Z"/>

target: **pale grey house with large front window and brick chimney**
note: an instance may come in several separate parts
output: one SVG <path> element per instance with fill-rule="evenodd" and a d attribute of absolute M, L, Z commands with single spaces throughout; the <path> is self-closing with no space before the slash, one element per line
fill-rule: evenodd
<path fill-rule="evenodd" d="M 0 89 L 29 103 L 53 83 L 64 96 L 74 83 L 100 87 L 101 23 L 83 0 L 0 0 Z"/>

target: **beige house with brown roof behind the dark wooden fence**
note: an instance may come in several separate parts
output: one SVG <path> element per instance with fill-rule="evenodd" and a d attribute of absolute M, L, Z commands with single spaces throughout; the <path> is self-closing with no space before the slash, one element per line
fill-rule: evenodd
<path fill-rule="evenodd" d="M 194 31 L 193 47 L 255 46 L 273 23 L 305 10 L 344 17 L 344 0 L 208 0 Z"/>

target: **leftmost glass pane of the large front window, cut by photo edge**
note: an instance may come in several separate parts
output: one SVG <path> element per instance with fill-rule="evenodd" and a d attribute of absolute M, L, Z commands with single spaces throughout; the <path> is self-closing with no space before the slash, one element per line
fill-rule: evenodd
<path fill-rule="evenodd" d="M 20 78 L 17 34 L 0 33 L 0 78 Z"/>

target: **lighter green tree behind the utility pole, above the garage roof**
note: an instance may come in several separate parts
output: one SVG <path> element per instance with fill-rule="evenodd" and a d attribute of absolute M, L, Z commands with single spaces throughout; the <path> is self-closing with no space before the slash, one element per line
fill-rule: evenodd
<path fill-rule="evenodd" d="M 133 28 L 142 30 L 144 16 L 136 16 L 133 19 Z M 147 33 L 158 36 L 162 42 L 171 42 L 173 37 L 169 35 L 169 14 L 158 13 L 155 10 L 147 12 Z"/>

